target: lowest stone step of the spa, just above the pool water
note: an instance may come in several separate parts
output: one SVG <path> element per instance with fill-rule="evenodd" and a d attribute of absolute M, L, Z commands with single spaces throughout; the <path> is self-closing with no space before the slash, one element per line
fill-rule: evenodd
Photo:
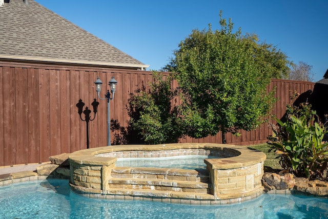
<path fill-rule="evenodd" d="M 190 200 L 214 200 L 214 195 L 196 192 L 179 192 L 179 191 L 161 191 L 151 189 L 118 189 L 110 188 L 107 191 L 109 195 L 133 195 L 144 197 L 158 197 L 158 198 L 180 198 Z"/>

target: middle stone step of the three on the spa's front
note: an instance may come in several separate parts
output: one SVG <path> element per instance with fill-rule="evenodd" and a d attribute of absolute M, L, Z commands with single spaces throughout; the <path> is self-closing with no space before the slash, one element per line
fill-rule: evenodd
<path fill-rule="evenodd" d="M 210 193 L 211 189 L 211 185 L 208 183 L 146 178 L 110 178 L 109 184 L 110 188 L 116 189 L 150 189 L 196 193 Z"/>

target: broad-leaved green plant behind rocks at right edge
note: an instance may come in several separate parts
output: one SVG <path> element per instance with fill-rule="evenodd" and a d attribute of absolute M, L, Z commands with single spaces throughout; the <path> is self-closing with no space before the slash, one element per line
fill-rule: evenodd
<path fill-rule="evenodd" d="M 291 99 L 296 96 L 292 94 Z M 287 108 L 286 122 L 276 118 L 278 125 L 273 126 L 268 144 L 277 149 L 282 168 L 296 176 L 310 180 L 326 177 L 328 143 L 322 139 L 327 131 L 320 122 L 314 122 L 316 112 L 310 104 L 290 104 Z"/>

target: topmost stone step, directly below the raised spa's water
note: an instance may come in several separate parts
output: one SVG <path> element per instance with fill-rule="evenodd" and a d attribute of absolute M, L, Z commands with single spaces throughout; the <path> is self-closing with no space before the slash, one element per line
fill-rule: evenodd
<path fill-rule="evenodd" d="M 149 178 L 189 182 L 209 182 L 207 170 L 145 168 L 145 167 L 114 167 L 112 177 L 116 178 Z"/>

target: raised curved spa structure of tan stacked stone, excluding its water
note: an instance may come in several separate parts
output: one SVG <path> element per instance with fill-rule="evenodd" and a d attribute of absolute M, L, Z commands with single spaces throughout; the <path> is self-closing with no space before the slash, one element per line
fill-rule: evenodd
<path fill-rule="evenodd" d="M 207 171 L 115 167 L 121 157 L 214 155 Z M 69 155 L 70 185 L 90 196 L 183 204 L 225 204 L 262 193 L 265 154 L 222 144 L 129 145 L 92 148 Z"/>

